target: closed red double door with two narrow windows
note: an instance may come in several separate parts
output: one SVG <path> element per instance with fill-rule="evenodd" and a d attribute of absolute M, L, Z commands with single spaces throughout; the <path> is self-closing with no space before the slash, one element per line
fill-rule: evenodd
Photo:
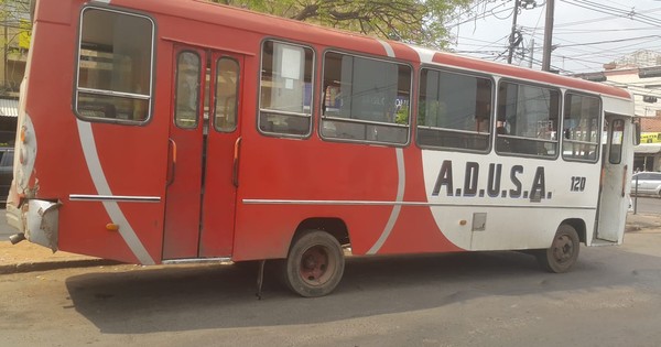
<path fill-rule="evenodd" d="M 231 254 L 243 57 L 175 46 L 163 260 Z"/>

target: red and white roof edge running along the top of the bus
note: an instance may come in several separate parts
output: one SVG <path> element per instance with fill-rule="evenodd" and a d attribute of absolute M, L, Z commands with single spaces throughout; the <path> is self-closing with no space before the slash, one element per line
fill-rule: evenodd
<path fill-rule="evenodd" d="M 412 63 L 456 67 L 502 77 L 528 79 L 537 83 L 598 93 L 610 97 L 631 99 L 630 93 L 625 89 L 588 82 L 577 77 L 561 76 L 531 68 L 487 62 L 447 52 L 418 47 L 401 42 L 380 40 L 354 32 L 323 28 L 316 24 L 258 13 L 205 0 L 112 0 L 111 3 L 143 10 L 150 13 L 162 13 L 210 24 L 227 25 L 247 32 L 261 33 L 263 35 L 281 36 L 301 43 L 313 45 L 324 43 L 324 45 L 330 47 L 380 56 L 387 56 L 387 52 L 383 47 L 383 43 L 387 43 L 393 47 L 394 55 L 398 58 Z M 274 33 L 278 34 L 274 35 Z"/>

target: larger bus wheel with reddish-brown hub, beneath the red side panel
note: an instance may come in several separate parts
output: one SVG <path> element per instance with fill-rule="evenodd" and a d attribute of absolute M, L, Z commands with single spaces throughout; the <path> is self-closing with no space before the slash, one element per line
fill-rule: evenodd
<path fill-rule="evenodd" d="M 344 252 L 328 232 L 306 230 L 292 241 L 283 280 L 296 294 L 324 296 L 333 292 L 344 273 Z"/>

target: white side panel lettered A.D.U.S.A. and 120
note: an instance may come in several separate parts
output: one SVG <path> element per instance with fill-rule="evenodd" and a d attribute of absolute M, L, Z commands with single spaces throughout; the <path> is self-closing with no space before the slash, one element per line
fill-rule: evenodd
<path fill-rule="evenodd" d="M 548 248 L 565 219 L 581 219 L 587 230 L 594 226 L 597 163 L 559 165 L 552 160 L 431 150 L 423 151 L 423 162 L 436 224 L 464 249 Z M 581 184 L 573 189 L 576 181 Z"/>

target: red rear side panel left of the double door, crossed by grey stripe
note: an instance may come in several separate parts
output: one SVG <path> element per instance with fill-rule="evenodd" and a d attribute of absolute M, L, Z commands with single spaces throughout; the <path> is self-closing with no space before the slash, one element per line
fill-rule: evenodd
<path fill-rule="evenodd" d="M 69 12 L 51 8 L 65 8 Z M 51 11 L 54 10 L 54 11 Z M 26 76 L 26 116 L 34 127 L 34 198 L 58 200 L 58 249 L 127 262 L 160 259 L 167 141 L 162 107 L 144 126 L 78 119 L 72 110 L 80 1 L 42 1 L 40 28 Z M 45 13 L 45 14 L 44 14 Z M 53 13 L 57 13 L 54 18 Z M 40 22 L 48 15 L 51 22 Z M 66 22 L 66 23 L 65 23 Z M 165 64 L 159 64 L 165 66 Z M 167 76 L 158 73 L 160 76 Z M 167 80 L 163 80 L 169 85 Z M 167 100 L 166 94 L 156 99 Z M 166 111 L 166 110 L 165 110 Z M 159 141 L 158 139 L 163 139 Z M 72 195 L 93 196 L 72 200 Z M 151 202 L 101 202 L 100 196 L 140 196 Z M 119 227 L 112 230 L 108 224 Z"/>

